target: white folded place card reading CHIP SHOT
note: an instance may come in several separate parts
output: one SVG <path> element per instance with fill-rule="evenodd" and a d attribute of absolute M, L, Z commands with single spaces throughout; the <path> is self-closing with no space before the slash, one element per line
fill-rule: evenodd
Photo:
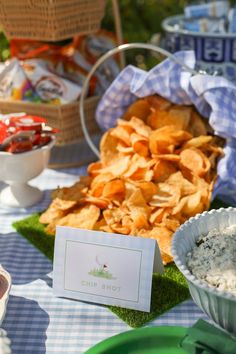
<path fill-rule="evenodd" d="M 57 227 L 56 296 L 149 312 L 153 272 L 163 272 L 153 239 Z"/>

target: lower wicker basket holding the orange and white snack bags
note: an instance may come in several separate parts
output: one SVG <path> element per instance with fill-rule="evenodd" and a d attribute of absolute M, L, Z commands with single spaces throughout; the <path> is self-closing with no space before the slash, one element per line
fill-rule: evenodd
<path fill-rule="evenodd" d="M 93 96 L 85 100 L 84 111 L 89 131 L 92 134 L 100 130 L 94 119 L 99 97 Z M 57 145 L 62 146 L 74 143 L 84 137 L 80 123 L 79 102 L 52 105 L 47 103 L 31 103 L 24 101 L 0 100 L 0 112 L 3 114 L 26 112 L 32 115 L 43 116 L 48 124 L 59 129 Z"/>

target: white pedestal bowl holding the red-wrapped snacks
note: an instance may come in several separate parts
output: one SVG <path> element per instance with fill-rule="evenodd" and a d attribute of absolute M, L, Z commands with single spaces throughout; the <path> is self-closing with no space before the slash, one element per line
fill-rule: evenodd
<path fill-rule="evenodd" d="M 9 186 L 0 193 L 2 205 L 28 207 L 42 198 L 42 192 L 27 182 L 37 177 L 48 165 L 55 137 L 38 149 L 12 154 L 0 151 L 0 181 Z"/>

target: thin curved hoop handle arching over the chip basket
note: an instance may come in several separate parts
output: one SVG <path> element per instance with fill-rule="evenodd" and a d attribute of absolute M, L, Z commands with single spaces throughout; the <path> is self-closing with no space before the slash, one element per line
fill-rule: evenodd
<path fill-rule="evenodd" d="M 173 54 L 169 53 L 167 50 L 162 49 L 158 46 L 155 46 L 153 44 L 146 44 L 146 43 L 128 43 L 128 44 L 122 44 L 114 49 L 109 50 L 108 52 L 106 52 L 104 55 L 102 55 L 97 62 L 94 64 L 94 66 L 92 67 L 92 69 L 90 70 L 90 72 L 88 73 L 86 80 L 84 81 L 83 87 L 82 87 L 82 91 L 81 91 L 81 95 L 80 95 L 80 104 L 79 104 L 79 113 L 80 113 L 80 121 L 81 121 L 81 127 L 82 127 L 82 131 L 84 134 L 84 137 L 90 147 L 90 149 L 94 152 L 94 154 L 99 158 L 100 154 L 99 154 L 99 150 L 97 149 L 97 147 L 95 146 L 95 144 L 93 143 L 87 126 L 86 126 L 86 119 L 85 119 L 85 115 L 84 115 L 84 100 L 88 94 L 88 87 L 89 87 L 89 82 L 91 80 L 91 77 L 93 76 L 93 74 L 95 73 L 95 71 L 97 70 L 97 68 L 104 62 L 106 61 L 108 58 L 110 58 L 111 56 L 120 53 L 122 51 L 128 50 L 128 49 L 148 49 L 154 52 L 157 52 L 159 54 L 162 54 L 164 56 L 166 56 L 169 59 L 172 59 L 175 63 L 179 64 L 180 66 L 182 66 L 186 71 L 188 71 L 189 73 L 191 73 L 192 75 L 196 75 L 197 71 L 191 69 L 190 67 L 188 67 L 186 64 L 184 64 L 181 60 L 179 60 L 178 58 L 176 58 Z"/>

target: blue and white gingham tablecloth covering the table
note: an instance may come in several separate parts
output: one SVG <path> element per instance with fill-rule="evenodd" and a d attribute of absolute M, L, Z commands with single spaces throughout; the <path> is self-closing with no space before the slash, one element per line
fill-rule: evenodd
<path fill-rule="evenodd" d="M 13 354 L 84 353 L 99 341 L 131 328 L 106 307 L 52 294 L 52 263 L 12 228 L 12 222 L 44 210 L 50 191 L 70 186 L 86 166 L 46 169 L 31 181 L 44 191 L 43 200 L 27 209 L 0 208 L 0 263 L 12 275 L 12 288 L 2 328 Z M 2 188 L 3 183 L 0 183 Z M 191 326 L 203 312 L 187 300 L 147 326 Z"/>

